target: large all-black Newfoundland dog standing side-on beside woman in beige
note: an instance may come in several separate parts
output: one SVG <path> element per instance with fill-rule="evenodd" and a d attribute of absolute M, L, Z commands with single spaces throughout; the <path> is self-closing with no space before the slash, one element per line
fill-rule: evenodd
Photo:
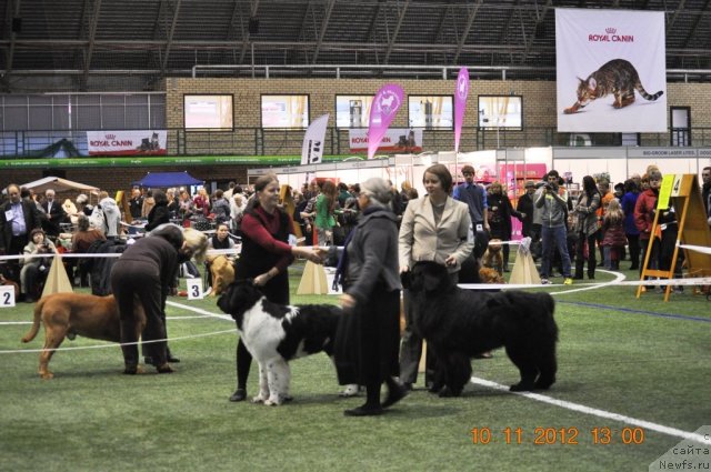
<path fill-rule="evenodd" d="M 415 263 L 402 283 L 413 297 L 414 329 L 437 358 L 431 391 L 460 395 L 471 379 L 470 359 L 500 347 L 521 373 L 511 391 L 545 390 L 555 382 L 558 327 L 548 293 L 463 290 L 435 262 Z"/>

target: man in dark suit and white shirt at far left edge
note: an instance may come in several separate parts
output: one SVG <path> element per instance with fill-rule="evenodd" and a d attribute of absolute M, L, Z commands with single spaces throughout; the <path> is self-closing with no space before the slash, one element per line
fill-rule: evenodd
<path fill-rule="evenodd" d="M 33 202 L 20 198 L 20 188 L 11 183 L 7 188 L 9 200 L 0 207 L 0 254 L 21 254 L 30 241 L 30 232 L 41 228 L 40 212 Z M 20 281 L 18 260 L 8 261 L 11 278 Z"/>

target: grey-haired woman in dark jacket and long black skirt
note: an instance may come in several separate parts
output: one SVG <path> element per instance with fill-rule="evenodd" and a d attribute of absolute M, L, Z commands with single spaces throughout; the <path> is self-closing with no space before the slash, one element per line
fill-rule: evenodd
<path fill-rule="evenodd" d="M 346 410 L 348 416 L 381 414 L 407 391 L 393 376 L 399 373 L 400 275 L 398 220 L 389 209 L 390 185 L 380 178 L 361 184 L 362 215 L 347 241 L 341 305 L 347 313 L 336 341 L 336 364 L 342 384 L 365 385 L 367 400 Z M 348 312 L 350 311 L 350 312 Z M 388 398 L 380 403 L 380 385 Z"/>

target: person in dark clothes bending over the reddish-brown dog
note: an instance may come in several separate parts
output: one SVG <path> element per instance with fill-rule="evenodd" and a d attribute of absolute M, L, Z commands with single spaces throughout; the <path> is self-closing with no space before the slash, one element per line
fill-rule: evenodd
<path fill-rule="evenodd" d="M 121 350 L 126 369 L 136 374 L 138 368 L 138 339 L 136 339 L 134 298 L 138 297 L 146 312 L 143 341 L 159 373 L 173 372 L 168 363 L 164 310 L 166 299 L 181 262 L 192 257 L 204 259 L 208 239 L 191 228 L 181 229 L 166 224 L 150 237 L 130 245 L 111 270 L 111 288 L 119 305 L 121 319 Z"/>

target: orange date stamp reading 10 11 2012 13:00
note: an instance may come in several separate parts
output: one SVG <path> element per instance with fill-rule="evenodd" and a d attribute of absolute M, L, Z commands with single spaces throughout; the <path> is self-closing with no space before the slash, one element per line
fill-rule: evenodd
<path fill-rule="evenodd" d="M 507 426 L 502 430 L 493 430 L 488 426 L 472 428 L 471 441 L 473 444 L 567 444 L 592 443 L 593 445 L 644 443 L 644 429 L 625 426 L 614 429 L 610 426 L 595 426 L 581 431 L 575 426 L 544 428 L 538 426 L 532 431 L 523 428 Z"/>

